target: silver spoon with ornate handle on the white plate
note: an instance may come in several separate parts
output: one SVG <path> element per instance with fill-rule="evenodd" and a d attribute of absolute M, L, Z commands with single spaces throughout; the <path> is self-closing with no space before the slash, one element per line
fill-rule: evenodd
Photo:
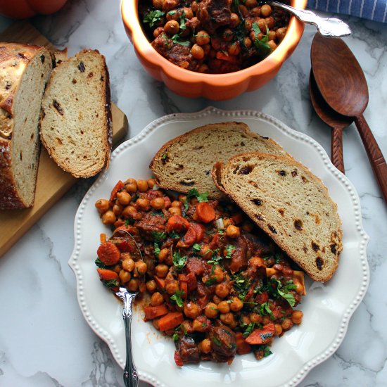
<path fill-rule="evenodd" d="M 114 234 L 122 233 L 129 236 L 134 241 L 134 246 L 136 246 L 139 256 L 142 259 L 142 254 L 137 242 L 134 240 L 133 236 L 129 234 L 126 230 L 115 231 Z M 138 291 L 128 291 L 127 288 L 120 286 L 120 291 L 116 292 L 115 295 L 120 297 L 124 303 L 122 309 L 122 318 L 124 319 L 125 324 L 125 342 L 126 342 L 126 360 L 125 360 L 125 369 L 124 369 L 124 384 L 125 387 L 137 387 L 139 386 L 139 376 L 137 374 L 136 366 L 133 362 L 132 355 L 132 336 L 131 336 L 131 327 L 132 327 L 132 303 L 134 298 L 136 298 Z"/>

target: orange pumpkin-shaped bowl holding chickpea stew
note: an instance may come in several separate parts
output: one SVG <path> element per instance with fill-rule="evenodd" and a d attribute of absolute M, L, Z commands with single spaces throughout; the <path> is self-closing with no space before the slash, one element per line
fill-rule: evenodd
<path fill-rule="evenodd" d="M 291 0 L 296 8 L 305 8 L 307 0 Z M 138 0 L 122 0 L 121 13 L 125 30 L 134 51 L 146 71 L 169 89 L 185 97 L 205 97 L 223 101 L 244 91 L 259 89 L 272 80 L 286 58 L 291 56 L 303 34 L 304 25 L 291 17 L 284 40 L 267 58 L 255 65 L 227 74 L 203 74 L 179 68 L 161 56 L 146 38 L 137 11 Z"/>

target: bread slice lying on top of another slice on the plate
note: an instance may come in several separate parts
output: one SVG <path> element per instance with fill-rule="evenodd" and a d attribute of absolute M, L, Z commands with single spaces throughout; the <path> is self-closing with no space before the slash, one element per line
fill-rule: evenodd
<path fill-rule="evenodd" d="M 254 152 L 215 164 L 212 176 L 312 279 L 331 279 L 342 250 L 341 220 L 310 170 L 291 158 Z"/>

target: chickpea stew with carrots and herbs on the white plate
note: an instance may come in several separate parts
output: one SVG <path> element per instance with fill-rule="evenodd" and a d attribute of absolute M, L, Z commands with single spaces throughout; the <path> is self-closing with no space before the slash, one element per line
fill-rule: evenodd
<path fill-rule="evenodd" d="M 127 179 L 95 204 L 102 222 L 127 230 L 143 255 L 120 233 L 102 239 L 101 281 L 148 293 L 144 321 L 175 341 L 178 366 L 246 353 L 260 360 L 303 319 L 293 309 L 305 296 L 303 272 L 239 208 L 207 196 Z"/>

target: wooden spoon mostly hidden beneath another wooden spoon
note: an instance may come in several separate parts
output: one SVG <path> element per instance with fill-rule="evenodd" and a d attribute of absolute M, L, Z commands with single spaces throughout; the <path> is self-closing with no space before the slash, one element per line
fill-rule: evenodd
<path fill-rule="evenodd" d="M 309 94 L 315 112 L 332 129 L 331 160 L 334 166 L 344 173 L 343 129 L 353 122 L 353 118 L 338 114 L 325 100 L 317 87 L 313 71 L 310 70 Z"/>

